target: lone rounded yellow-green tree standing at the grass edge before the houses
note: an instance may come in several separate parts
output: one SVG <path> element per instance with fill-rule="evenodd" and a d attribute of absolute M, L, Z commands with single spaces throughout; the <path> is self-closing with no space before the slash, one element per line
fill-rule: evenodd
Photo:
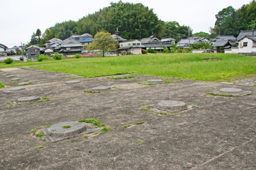
<path fill-rule="evenodd" d="M 103 31 L 98 32 L 94 36 L 94 41 L 92 41 L 92 43 L 87 47 L 87 50 L 100 51 L 100 53 L 102 53 L 102 57 L 104 57 L 104 53 L 113 51 L 116 49 L 116 45 L 118 45 L 118 41 L 115 41 L 110 35 L 110 33 L 105 33 Z"/>

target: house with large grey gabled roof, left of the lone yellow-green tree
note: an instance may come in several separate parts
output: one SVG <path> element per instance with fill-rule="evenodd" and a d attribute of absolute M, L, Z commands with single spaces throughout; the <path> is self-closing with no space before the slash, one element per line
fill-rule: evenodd
<path fill-rule="evenodd" d="M 71 37 L 63 40 L 62 43 L 56 47 L 56 49 L 58 49 L 58 52 L 62 53 L 64 56 L 75 55 L 76 53 L 81 54 L 84 50 L 82 45 Z"/>

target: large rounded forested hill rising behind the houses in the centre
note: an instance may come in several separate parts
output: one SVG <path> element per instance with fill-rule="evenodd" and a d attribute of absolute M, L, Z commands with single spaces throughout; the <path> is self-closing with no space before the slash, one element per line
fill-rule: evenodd
<path fill-rule="evenodd" d="M 149 9 L 141 3 L 110 3 L 110 6 L 100 9 L 94 14 L 88 14 L 78 21 L 64 21 L 56 23 L 54 27 L 46 29 L 42 36 L 42 43 L 57 37 L 66 39 L 73 34 L 89 33 L 95 35 L 99 31 L 108 31 L 114 34 L 116 28 L 120 36 L 125 39 L 141 39 L 149 37 L 152 32 L 158 38 L 172 37 L 178 39 L 188 37 L 188 26 L 179 25 L 176 21 L 164 22 L 158 19 L 153 9 Z M 192 29 L 190 31 L 192 34 Z"/>

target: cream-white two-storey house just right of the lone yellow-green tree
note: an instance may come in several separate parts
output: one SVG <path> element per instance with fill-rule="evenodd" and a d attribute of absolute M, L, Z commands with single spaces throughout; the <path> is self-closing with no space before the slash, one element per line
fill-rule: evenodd
<path fill-rule="evenodd" d="M 141 54 L 141 41 L 138 39 L 126 40 L 120 42 L 120 51 L 126 51 L 128 54 Z"/>

